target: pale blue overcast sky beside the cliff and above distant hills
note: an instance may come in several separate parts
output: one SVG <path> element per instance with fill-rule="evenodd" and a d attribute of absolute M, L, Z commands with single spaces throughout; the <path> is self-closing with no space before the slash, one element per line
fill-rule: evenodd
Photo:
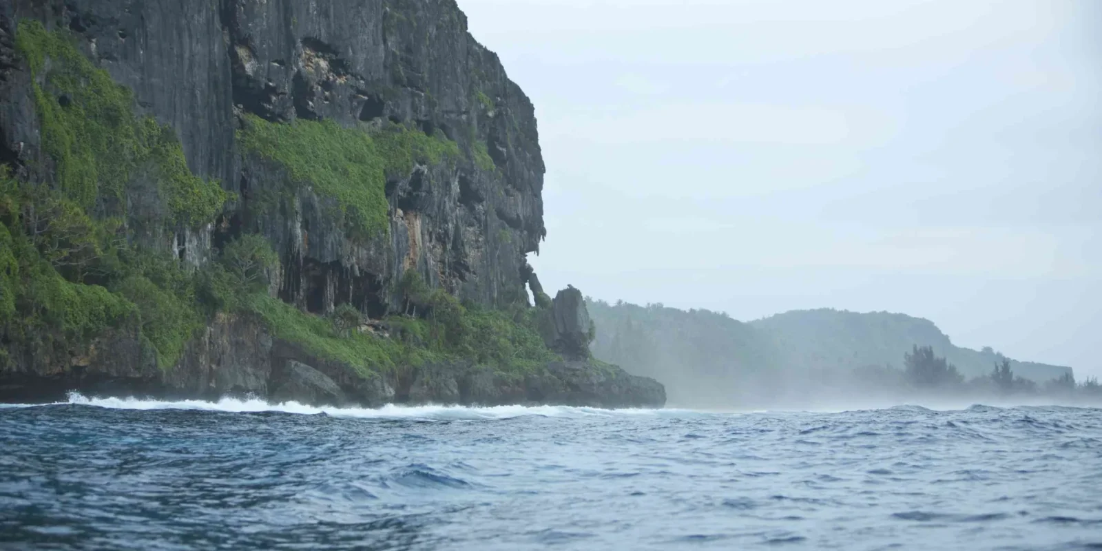
<path fill-rule="evenodd" d="M 552 294 L 901 312 L 1102 377 L 1102 1 L 458 3 L 536 105 Z"/>

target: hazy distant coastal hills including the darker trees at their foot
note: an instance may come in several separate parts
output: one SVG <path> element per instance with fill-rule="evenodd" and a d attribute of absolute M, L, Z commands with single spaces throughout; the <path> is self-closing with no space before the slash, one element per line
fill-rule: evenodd
<path fill-rule="evenodd" d="M 903 314 L 820 310 L 744 323 L 661 304 L 587 306 L 594 357 L 658 379 L 672 406 L 1102 403 L 1096 379 L 955 346 L 931 322 Z"/>

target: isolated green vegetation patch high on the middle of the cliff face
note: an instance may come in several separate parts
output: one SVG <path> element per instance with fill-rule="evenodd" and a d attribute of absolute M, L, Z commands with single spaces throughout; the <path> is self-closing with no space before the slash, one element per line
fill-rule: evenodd
<path fill-rule="evenodd" d="M 328 120 L 269 122 L 246 116 L 241 144 L 283 165 L 291 179 L 309 183 L 337 202 L 346 223 L 364 235 L 386 234 L 388 175 L 406 175 L 414 163 L 435 164 L 460 155 L 443 136 L 429 137 L 399 125 L 367 132 Z"/>

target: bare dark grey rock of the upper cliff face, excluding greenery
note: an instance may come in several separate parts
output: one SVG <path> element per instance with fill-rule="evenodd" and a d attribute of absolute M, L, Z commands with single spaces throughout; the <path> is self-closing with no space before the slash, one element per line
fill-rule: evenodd
<path fill-rule="evenodd" d="M 196 175 L 239 194 L 212 231 L 175 236 L 190 261 L 209 256 L 210 236 L 259 230 L 281 255 L 281 295 L 317 312 L 350 294 L 353 279 L 376 287 L 357 306 L 387 307 L 385 289 L 409 268 L 489 304 L 522 288 L 523 255 L 545 235 L 534 112 L 453 1 L 17 0 L 4 17 L 8 36 L 19 18 L 69 30 L 140 109 L 175 129 Z M 45 160 L 31 75 L 12 57 L 4 142 L 21 166 L 50 180 L 35 169 Z M 455 166 L 388 174 L 389 235 L 354 241 L 325 216 L 327 198 L 309 188 L 256 205 L 287 174 L 235 137 L 249 114 L 345 128 L 410 123 L 428 136 L 439 130 L 468 154 Z"/>

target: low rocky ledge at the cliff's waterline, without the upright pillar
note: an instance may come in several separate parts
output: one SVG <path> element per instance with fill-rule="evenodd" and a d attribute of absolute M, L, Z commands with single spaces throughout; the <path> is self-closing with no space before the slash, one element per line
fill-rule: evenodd
<path fill-rule="evenodd" d="M 65 401 L 68 392 L 86 397 L 195 399 L 257 397 L 272 403 L 379 408 L 386 404 L 576 406 L 661 408 L 666 391 L 647 377 L 586 361 L 562 361 L 522 376 L 469 365 L 431 365 L 401 376 L 361 377 L 348 366 L 313 359 L 292 344 L 274 341 L 272 356 L 250 364 L 212 366 L 208 372 L 121 372 L 97 363 L 64 374 L 6 377 L 2 403 Z M 338 382 L 339 381 L 339 382 Z M 231 385 L 231 386 L 227 386 Z"/>

